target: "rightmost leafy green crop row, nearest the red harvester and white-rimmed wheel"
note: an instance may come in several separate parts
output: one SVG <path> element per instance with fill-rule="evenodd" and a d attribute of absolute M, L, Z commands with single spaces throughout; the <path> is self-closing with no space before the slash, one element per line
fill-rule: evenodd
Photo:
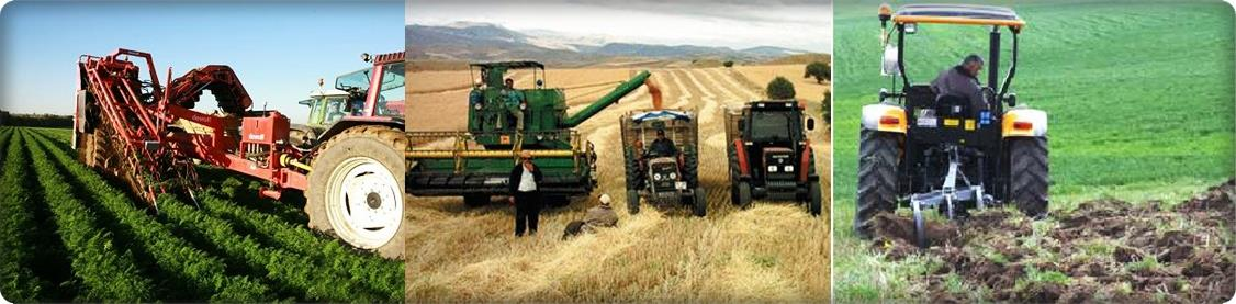
<path fill-rule="evenodd" d="M 68 147 L 59 145 L 57 148 L 56 140 L 43 132 L 37 133 L 43 135 L 40 142 L 49 152 L 47 154 L 77 175 L 85 185 L 83 188 L 89 189 L 99 200 L 110 199 L 104 204 L 109 210 L 121 214 L 127 208 L 133 214 L 130 216 L 133 219 L 129 219 L 132 224 L 126 225 L 135 226 L 133 224 L 140 222 L 136 226 L 148 227 L 143 230 L 164 237 L 180 236 L 189 240 L 184 242 L 172 239 L 179 241 L 178 247 L 182 248 L 192 250 L 193 245 L 211 248 L 215 255 L 227 257 L 229 269 L 239 267 L 252 276 L 265 276 L 279 294 L 293 294 L 303 300 L 331 302 L 402 298 L 403 273 L 398 262 L 357 256 L 353 250 L 342 247 L 337 241 L 315 236 L 303 226 L 297 227 L 277 216 L 255 213 L 221 199 L 214 188 L 199 193 L 198 203 L 203 204 L 203 209 L 195 209 L 172 195 L 159 196 L 161 214 L 156 221 L 156 217 L 133 210 L 132 201 L 120 190 L 73 161 Z"/>

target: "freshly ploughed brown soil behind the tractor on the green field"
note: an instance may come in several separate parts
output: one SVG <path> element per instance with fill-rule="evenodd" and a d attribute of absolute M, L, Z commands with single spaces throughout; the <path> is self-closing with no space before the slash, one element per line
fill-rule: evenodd
<path fill-rule="evenodd" d="M 938 261 L 922 274 L 925 299 L 937 303 L 1221 303 L 1236 293 L 1234 198 L 1236 179 L 1170 209 L 1094 200 L 1039 222 L 989 209 L 929 221 L 927 248 L 913 245 L 913 220 L 883 214 L 871 250 Z M 950 289 L 949 276 L 964 287 Z"/>

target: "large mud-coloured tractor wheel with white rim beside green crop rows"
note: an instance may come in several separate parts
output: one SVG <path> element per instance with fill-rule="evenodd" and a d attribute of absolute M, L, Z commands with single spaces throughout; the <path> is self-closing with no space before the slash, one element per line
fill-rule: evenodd
<path fill-rule="evenodd" d="M 408 208 L 403 195 L 407 137 L 384 126 L 357 126 L 326 141 L 309 173 L 309 227 L 349 245 L 403 258 Z"/>

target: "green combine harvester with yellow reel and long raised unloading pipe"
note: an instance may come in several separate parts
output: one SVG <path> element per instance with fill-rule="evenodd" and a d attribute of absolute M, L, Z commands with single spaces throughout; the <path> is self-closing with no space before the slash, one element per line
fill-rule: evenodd
<path fill-rule="evenodd" d="M 597 156 L 592 143 L 572 129 L 649 78 L 646 70 L 640 72 L 569 115 L 564 90 L 545 87 L 545 65 L 540 63 L 477 63 L 471 70 L 482 80 L 470 93 L 467 132 L 408 132 L 410 142 L 428 143 L 405 153 L 408 194 L 459 195 L 470 206 L 488 204 L 491 196 L 507 194 L 510 168 L 519 153 L 528 151 L 544 172 L 538 188 L 549 205 L 561 206 L 570 196 L 586 195 L 597 184 Z M 535 87 L 507 88 L 513 70 L 531 70 Z"/>

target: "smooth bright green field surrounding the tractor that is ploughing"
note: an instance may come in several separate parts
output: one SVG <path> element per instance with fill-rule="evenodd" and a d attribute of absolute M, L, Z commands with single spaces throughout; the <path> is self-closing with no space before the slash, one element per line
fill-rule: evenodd
<path fill-rule="evenodd" d="M 879 5 L 834 9 L 833 282 L 842 303 L 926 300 L 918 297 L 927 283 L 916 278 L 936 262 L 927 255 L 890 261 L 853 232 L 860 108 L 876 103 L 880 88 L 892 89 L 879 74 Z M 1053 214 L 1100 198 L 1177 204 L 1234 175 L 1230 6 L 1057 1 L 1014 9 L 1027 27 L 1011 90 L 1049 115 Z M 928 83 L 969 53 L 988 57 L 989 31 L 920 26 L 906 42 L 911 82 Z M 1009 53 L 1001 59 L 1007 67 Z"/>

